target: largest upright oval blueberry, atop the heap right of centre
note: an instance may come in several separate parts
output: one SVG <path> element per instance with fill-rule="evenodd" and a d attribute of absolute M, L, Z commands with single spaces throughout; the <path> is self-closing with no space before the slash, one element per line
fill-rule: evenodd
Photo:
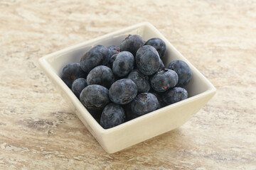
<path fill-rule="evenodd" d="M 159 54 L 156 49 L 150 45 L 144 45 L 139 48 L 135 61 L 139 71 L 147 76 L 154 74 L 159 69 Z"/>

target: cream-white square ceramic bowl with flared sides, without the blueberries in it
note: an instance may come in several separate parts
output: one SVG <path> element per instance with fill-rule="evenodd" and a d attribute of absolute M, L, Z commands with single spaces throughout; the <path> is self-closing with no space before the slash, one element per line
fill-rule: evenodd
<path fill-rule="evenodd" d="M 82 55 L 95 45 L 120 45 L 122 40 L 129 34 L 141 35 L 144 40 L 149 40 L 150 38 L 161 38 L 164 40 L 166 42 L 165 65 L 173 60 L 183 60 L 188 64 L 193 75 L 188 86 L 186 86 L 188 98 L 105 130 L 60 79 L 60 74 L 66 64 L 80 62 Z M 92 133 L 102 148 L 110 154 L 178 128 L 195 115 L 216 92 L 213 84 L 198 69 L 193 67 L 151 23 L 146 22 L 46 55 L 39 59 L 39 64 L 56 89 L 60 91 L 63 98 L 73 108 L 73 111 L 87 130 Z"/>

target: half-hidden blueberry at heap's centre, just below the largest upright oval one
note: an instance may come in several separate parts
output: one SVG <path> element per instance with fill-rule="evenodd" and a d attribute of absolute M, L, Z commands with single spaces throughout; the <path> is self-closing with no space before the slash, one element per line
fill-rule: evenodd
<path fill-rule="evenodd" d="M 132 72 L 129 73 L 127 79 L 131 79 L 132 81 L 134 81 L 137 86 L 138 93 L 149 92 L 149 77 L 139 72 L 138 69 L 132 70 Z"/>

